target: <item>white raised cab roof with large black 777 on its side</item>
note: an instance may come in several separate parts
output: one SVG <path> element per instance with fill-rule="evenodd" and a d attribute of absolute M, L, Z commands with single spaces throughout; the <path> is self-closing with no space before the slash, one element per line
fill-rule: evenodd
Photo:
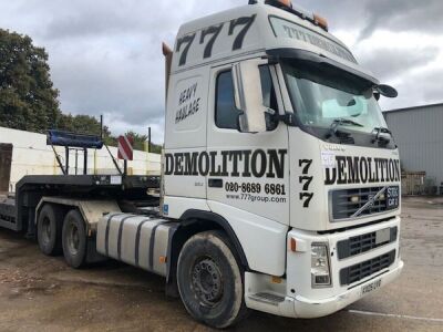
<path fill-rule="evenodd" d="M 174 46 L 172 70 L 177 72 L 275 49 L 310 51 L 373 76 L 358 65 L 349 49 L 332 34 L 296 14 L 261 3 L 183 24 Z"/>

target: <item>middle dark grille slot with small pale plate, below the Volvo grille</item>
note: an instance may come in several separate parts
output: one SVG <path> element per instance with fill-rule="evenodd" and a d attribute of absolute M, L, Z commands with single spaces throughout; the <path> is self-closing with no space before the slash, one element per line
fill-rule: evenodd
<path fill-rule="evenodd" d="M 390 232 L 389 238 L 385 239 L 378 238 L 377 235 L 378 232 L 372 231 L 357 237 L 351 237 L 347 240 L 338 241 L 337 251 L 339 259 L 352 257 L 379 248 L 381 246 L 394 242 L 396 240 L 396 234 L 398 234 L 396 226 L 391 227 L 389 229 L 389 232 Z"/>

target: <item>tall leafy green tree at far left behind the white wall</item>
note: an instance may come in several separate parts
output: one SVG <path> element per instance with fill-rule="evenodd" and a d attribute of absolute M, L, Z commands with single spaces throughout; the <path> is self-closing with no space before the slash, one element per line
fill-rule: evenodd
<path fill-rule="evenodd" d="M 43 48 L 0 29 L 0 126 L 43 133 L 61 117 Z"/>

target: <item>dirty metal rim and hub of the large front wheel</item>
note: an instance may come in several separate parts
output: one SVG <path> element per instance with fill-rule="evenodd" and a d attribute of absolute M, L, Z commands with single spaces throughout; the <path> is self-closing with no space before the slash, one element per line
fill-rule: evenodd
<path fill-rule="evenodd" d="M 215 307 L 223 297 L 223 280 L 217 263 L 209 257 L 197 260 L 190 276 L 198 300 L 207 307 Z"/>

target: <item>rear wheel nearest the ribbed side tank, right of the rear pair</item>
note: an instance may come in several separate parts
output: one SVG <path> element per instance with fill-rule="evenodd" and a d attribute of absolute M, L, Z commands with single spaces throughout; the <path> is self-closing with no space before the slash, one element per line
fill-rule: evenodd
<path fill-rule="evenodd" d="M 66 263 L 79 269 L 86 262 L 87 239 L 82 215 L 78 210 L 68 212 L 62 231 L 63 255 Z"/>

